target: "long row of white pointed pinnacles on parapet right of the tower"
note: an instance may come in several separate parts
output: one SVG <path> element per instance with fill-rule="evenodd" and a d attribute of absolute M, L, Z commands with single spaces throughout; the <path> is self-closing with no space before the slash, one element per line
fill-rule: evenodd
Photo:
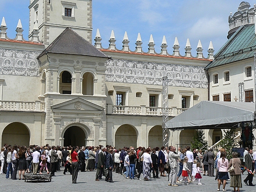
<path fill-rule="evenodd" d="M 128 39 L 128 34 L 127 32 L 125 32 L 125 35 L 124 35 L 124 38 L 123 38 L 123 48 L 121 50 L 117 49 L 116 48 L 116 38 L 115 38 L 115 34 L 114 34 L 114 31 L 112 30 L 111 32 L 111 35 L 110 35 L 110 38 L 109 38 L 109 47 L 108 48 L 103 48 L 102 45 L 101 45 L 101 36 L 100 36 L 100 33 L 99 33 L 99 30 L 97 29 L 97 32 L 96 32 L 96 37 L 95 37 L 95 47 L 97 49 L 102 49 L 102 50 L 110 50 L 110 51 L 121 51 L 121 52 L 128 52 L 128 53 L 135 53 L 135 54 L 149 54 L 149 55 L 160 55 L 160 56 L 170 56 L 170 57 L 179 57 L 179 58 L 197 58 L 197 59 L 208 59 L 208 60 L 213 60 L 213 53 L 214 53 L 214 48 L 213 48 L 213 44 L 212 44 L 212 41 L 210 42 L 209 44 L 209 47 L 208 47 L 208 55 L 207 57 L 204 57 L 203 56 L 203 47 L 202 47 L 202 44 L 201 44 L 201 41 L 199 40 L 198 41 L 198 44 L 197 44 L 197 47 L 196 47 L 196 56 L 193 57 L 192 56 L 192 53 L 191 53 L 191 45 L 190 45 L 190 40 L 187 39 L 187 43 L 186 43 L 186 47 L 185 47 L 185 56 L 182 56 L 180 54 L 180 44 L 179 44 L 179 41 L 178 41 L 178 38 L 175 37 L 175 40 L 174 40 L 174 44 L 173 44 L 173 51 L 172 51 L 172 54 L 169 54 L 168 53 L 168 50 L 167 50 L 167 42 L 166 42 L 166 38 L 165 36 L 163 36 L 162 38 L 162 43 L 161 43 L 161 52 L 160 53 L 157 53 L 155 51 L 155 42 L 154 42 L 154 39 L 153 39 L 153 35 L 151 34 L 150 35 L 150 38 L 149 38 L 149 42 L 148 42 L 148 51 L 147 52 L 144 52 L 142 50 L 142 40 L 141 40 L 141 36 L 140 36 L 140 33 L 138 33 L 138 36 L 137 36 L 137 40 L 135 42 L 135 51 L 131 51 L 129 49 L 129 39 Z"/>

